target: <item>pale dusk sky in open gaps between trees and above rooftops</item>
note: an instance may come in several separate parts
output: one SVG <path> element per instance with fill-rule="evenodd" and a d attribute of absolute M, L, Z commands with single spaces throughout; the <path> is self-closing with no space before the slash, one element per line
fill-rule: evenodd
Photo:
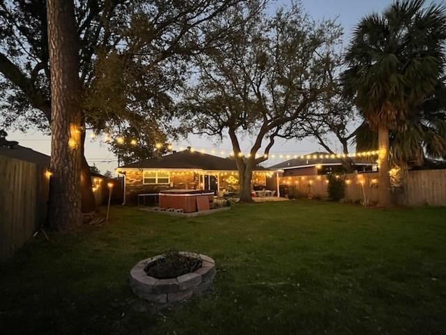
<path fill-rule="evenodd" d="M 287 3 L 289 1 L 275 1 L 271 7 L 274 8 Z M 390 3 L 392 3 L 391 0 L 302 0 L 302 4 L 307 12 L 316 20 L 337 17 L 337 21 L 344 27 L 345 44 L 348 43 L 351 31 L 361 17 L 372 11 L 383 10 Z M 50 153 L 49 137 L 41 135 L 38 131 L 30 131 L 26 134 L 20 132 L 10 133 L 8 138 L 10 140 L 18 140 L 23 146 L 31 147 L 44 154 Z M 249 138 L 245 138 L 242 142 L 243 149 L 248 149 L 251 144 L 252 141 Z M 218 143 L 217 139 L 197 136 L 190 136 L 186 140 L 181 140 L 178 145 L 191 145 L 192 147 L 204 148 L 206 151 L 210 151 L 210 149 L 231 149 L 231 144 L 227 139 L 222 143 Z M 338 147 L 338 149 L 340 148 Z M 279 159 L 279 154 L 305 154 L 315 150 L 321 150 L 321 147 L 314 140 L 279 140 L 270 151 L 271 154 L 276 154 L 277 158 L 268 160 L 266 165 L 283 161 L 284 159 Z M 90 165 L 95 164 L 102 173 L 106 170 L 114 171 L 114 168 L 117 166 L 116 157 L 108 150 L 107 144 L 100 140 L 87 140 L 85 154 Z"/>

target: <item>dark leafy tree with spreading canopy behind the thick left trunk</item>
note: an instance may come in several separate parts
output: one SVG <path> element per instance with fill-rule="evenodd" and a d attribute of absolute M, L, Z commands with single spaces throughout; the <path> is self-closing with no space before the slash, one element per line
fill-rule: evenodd
<path fill-rule="evenodd" d="M 97 0 L 76 1 L 76 34 L 79 40 L 79 77 L 82 85 L 81 120 L 83 211 L 92 211 L 95 202 L 89 167 L 83 155 L 85 130 L 116 131 L 123 125 L 159 111 L 165 92 L 153 84 L 174 77 L 175 66 L 218 40 L 224 30 L 203 38 L 203 26 L 221 20 L 226 10 L 240 0 Z M 229 28 L 228 28 L 229 29 Z M 107 72 L 121 62 L 118 71 Z M 180 68 L 179 73 L 184 70 Z M 132 71 L 132 76 L 123 75 Z M 134 77 L 121 87 L 102 85 L 115 78 Z M 164 72 L 167 71 L 167 72 Z M 50 64 L 47 45 L 45 0 L 0 0 L 0 125 L 6 128 L 38 128 L 49 131 L 51 124 Z M 166 76 L 165 73 L 168 73 Z M 125 74 L 125 73 L 124 73 Z M 145 75 L 144 75 L 145 74 Z M 161 74 L 161 75 L 160 75 Z M 176 75 L 176 82 L 182 77 Z M 123 83 L 123 82 L 121 82 Z M 145 92 L 142 92 L 143 89 Z M 138 91 L 138 95 L 134 94 Z M 118 94 L 116 94 L 118 92 Z M 116 96 L 121 104 L 112 105 Z M 134 101 L 141 102 L 138 106 Z M 146 101 L 147 103 L 144 103 Z M 122 108 L 122 106 L 124 107 Z M 134 125 L 133 125 L 134 126 Z"/>

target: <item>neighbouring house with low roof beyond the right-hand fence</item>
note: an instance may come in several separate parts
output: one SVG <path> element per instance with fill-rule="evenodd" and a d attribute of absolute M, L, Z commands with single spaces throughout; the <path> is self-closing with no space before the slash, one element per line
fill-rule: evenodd
<path fill-rule="evenodd" d="M 321 174 L 345 173 L 346 169 L 339 158 L 326 152 L 312 152 L 304 158 L 293 158 L 289 161 L 272 165 L 270 170 L 283 170 L 282 177 L 316 176 Z M 353 170 L 358 173 L 378 171 L 378 163 L 367 161 L 364 157 L 351 158 Z"/>

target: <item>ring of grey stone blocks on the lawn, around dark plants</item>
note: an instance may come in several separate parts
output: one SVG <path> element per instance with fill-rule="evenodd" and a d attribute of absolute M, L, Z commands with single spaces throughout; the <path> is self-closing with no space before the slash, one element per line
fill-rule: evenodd
<path fill-rule="evenodd" d="M 134 294 L 157 304 L 166 304 L 189 299 L 192 295 L 198 295 L 210 288 L 215 276 L 214 260 L 201 254 L 196 255 L 187 252 L 180 252 L 180 254 L 201 258 L 201 267 L 194 272 L 176 278 L 158 279 L 148 276 L 144 267 L 150 262 L 163 258 L 164 255 L 141 260 L 130 270 L 130 287 Z"/>

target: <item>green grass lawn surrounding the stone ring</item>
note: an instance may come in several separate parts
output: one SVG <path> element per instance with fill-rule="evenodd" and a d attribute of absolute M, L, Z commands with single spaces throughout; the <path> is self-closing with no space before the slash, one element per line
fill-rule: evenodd
<path fill-rule="evenodd" d="M 0 334 L 445 334 L 446 208 L 238 205 L 199 218 L 112 209 L 0 266 Z M 127 275 L 169 249 L 213 257 L 213 291 L 154 312 Z"/>

